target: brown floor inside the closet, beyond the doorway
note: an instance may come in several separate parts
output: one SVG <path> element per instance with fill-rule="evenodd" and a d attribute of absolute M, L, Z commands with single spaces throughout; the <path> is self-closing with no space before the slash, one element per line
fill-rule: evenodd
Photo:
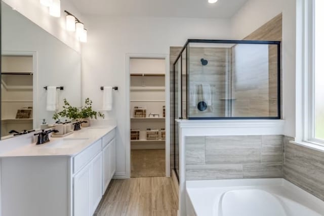
<path fill-rule="evenodd" d="M 145 149 L 131 151 L 131 177 L 166 176 L 166 151 Z"/>

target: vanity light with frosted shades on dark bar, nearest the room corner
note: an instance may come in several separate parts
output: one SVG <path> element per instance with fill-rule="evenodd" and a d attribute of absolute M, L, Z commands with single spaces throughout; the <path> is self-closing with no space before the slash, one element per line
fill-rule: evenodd
<path fill-rule="evenodd" d="M 64 11 L 66 15 L 66 29 L 68 31 L 75 31 L 76 37 L 80 42 L 87 42 L 88 30 L 85 29 L 85 25 L 77 19 L 73 14 L 68 11 Z"/>

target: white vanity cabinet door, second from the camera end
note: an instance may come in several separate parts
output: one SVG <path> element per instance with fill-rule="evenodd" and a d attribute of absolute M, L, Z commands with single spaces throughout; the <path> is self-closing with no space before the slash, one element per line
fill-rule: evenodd
<path fill-rule="evenodd" d="M 102 197 L 102 153 L 100 152 L 92 161 L 91 161 L 91 194 L 92 194 L 92 205 L 91 205 L 91 214 L 92 215 Z"/>

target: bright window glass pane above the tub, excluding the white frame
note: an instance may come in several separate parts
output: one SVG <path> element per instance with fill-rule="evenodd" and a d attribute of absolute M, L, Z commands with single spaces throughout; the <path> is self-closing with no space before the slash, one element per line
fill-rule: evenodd
<path fill-rule="evenodd" d="M 313 112 L 310 139 L 324 143 L 324 1 L 313 0 L 313 78 L 310 86 L 313 99 L 311 111 Z"/>

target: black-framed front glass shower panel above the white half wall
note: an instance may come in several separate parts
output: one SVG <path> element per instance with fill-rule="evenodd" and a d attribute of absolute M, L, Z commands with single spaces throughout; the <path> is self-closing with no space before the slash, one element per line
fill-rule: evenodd
<path fill-rule="evenodd" d="M 280 41 L 189 39 L 180 61 L 183 118 L 280 118 Z"/>

